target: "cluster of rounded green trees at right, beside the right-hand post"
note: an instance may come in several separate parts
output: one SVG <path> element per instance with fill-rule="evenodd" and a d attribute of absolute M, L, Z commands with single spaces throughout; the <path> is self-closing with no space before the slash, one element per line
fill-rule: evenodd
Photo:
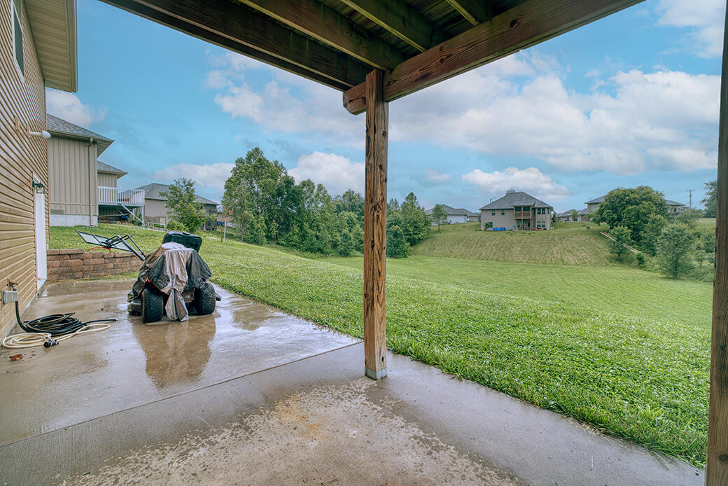
<path fill-rule="evenodd" d="M 705 184 L 708 195 L 705 216 L 715 216 L 714 181 Z M 711 205 L 712 202 L 712 205 Z M 713 211 L 712 215 L 709 211 Z M 652 187 L 614 189 L 593 213 L 592 221 L 609 226 L 609 250 L 622 260 L 632 246 L 638 264 L 646 262 L 644 254 L 654 256 L 657 270 L 670 278 L 691 275 L 701 280 L 712 278 L 711 265 L 715 253 L 715 232 L 698 227 L 703 211 L 686 209 L 675 218 L 668 218 L 668 205 L 662 192 Z"/>

